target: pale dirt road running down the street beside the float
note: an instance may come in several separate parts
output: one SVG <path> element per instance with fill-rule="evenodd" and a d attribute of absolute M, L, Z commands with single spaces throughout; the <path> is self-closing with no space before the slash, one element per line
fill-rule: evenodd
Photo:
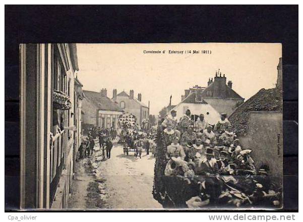
<path fill-rule="evenodd" d="M 162 208 L 152 195 L 155 159 L 151 154 L 147 156 L 143 152 L 141 159 L 136 158 L 133 152 L 127 156 L 123 153 L 123 148 L 120 145 L 114 144 L 111 150 L 111 158 L 102 160 L 102 151 L 99 149 L 97 142 L 94 150 L 95 153 L 90 158 L 93 177 L 89 176 L 89 173 L 86 175 L 82 173 L 81 178 L 84 180 L 83 177 L 89 176 L 87 178 L 88 182 L 86 182 L 87 190 L 94 190 L 94 187 L 91 186 L 96 183 L 99 184 L 99 192 L 95 192 L 97 197 L 93 200 L 98 204 L 91 203 L 93 202 L 91 200 L 94 197 L 93 195 L 86 195 L 87 207 L 111 209 Z M 83 165 L 83 161 L 80 161 L 79 164 Z M 75 180 L 73 187 L 77 189 L 76 184 L 80 182 Z M 82 182 L 82 189 L 84 189 L 84 186 Z M 75 193 L 77 192 L 79 191 L 75 190 Z M 85 196 L 85 194 L 79 194 L 73 194 L 73 198 L 77 201 Z M 82 197 L 75 197 L 77 195 Z M 70 202 L 69 206 L 71 208 L 79 208 L 80 203 L 74 204 L 73 199 Z M 80 206 L 83 207 L 83 205 Z"/>

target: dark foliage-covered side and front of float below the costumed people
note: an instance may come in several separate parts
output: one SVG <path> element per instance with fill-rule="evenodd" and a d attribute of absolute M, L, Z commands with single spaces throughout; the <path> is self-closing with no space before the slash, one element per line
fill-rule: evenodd
<path fill-rule="evenodd" d="M 158 124 L 156 137 L 153 196 L 164 208 L 281 208 L 282 186 L 264 169 L 233 169 L 214 175 L 187 176 L 182 164 L 168 160 L 163 129 Z"/>

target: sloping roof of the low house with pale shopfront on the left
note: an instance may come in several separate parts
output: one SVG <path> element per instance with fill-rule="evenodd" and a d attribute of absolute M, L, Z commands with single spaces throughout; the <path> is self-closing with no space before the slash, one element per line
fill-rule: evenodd
<path fill-rule="evenodd" d="M 83 90 L 83 92 L 85 97 L 87 97 L 90 101 L 92 101 L 98 109 L 123 112 L 122 108 L 120 108 L 107 96 L 101 96 L 100 92 L 94 92 L 88 90 Z"/>

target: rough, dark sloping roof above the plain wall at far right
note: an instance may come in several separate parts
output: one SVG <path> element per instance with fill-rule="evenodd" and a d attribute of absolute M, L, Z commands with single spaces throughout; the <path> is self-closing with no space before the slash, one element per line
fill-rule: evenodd
<path fill-rule="evenodd" d="M 256 111 L 282 111 L 282 93 L 277 88 L 260 89 L 246 102 L 239 105 L 229 116 L 233 131 L 245 134 L 248 130 L 250 112 Z"/>

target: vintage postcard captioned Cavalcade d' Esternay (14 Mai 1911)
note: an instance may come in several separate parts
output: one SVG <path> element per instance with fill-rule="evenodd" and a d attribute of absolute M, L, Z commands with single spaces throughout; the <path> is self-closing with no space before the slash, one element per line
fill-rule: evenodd
<path fill-rule="evenodd" d="M 280 209 L 282 45 L 21 44 L 21 209 Z"/>

